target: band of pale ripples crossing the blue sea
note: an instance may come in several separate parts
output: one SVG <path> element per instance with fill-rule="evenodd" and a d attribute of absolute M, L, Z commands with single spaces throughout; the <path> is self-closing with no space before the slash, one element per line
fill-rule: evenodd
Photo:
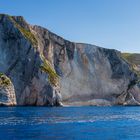
<path fill-rule="evenodd" d="M 55 123 L 94 123 L 97 121 L 136 120 L 140 121 L 140 115 L 103 115 L 103 116 L 52 116 L 52 117 L 0 117 L 0 125 L 40 125 Z"/>

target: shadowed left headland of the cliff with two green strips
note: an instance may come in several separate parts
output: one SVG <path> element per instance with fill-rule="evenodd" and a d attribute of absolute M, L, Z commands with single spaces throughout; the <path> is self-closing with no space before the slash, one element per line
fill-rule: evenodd
<path fill-rule="evenodd" d="M 55 70 L 34 34 L 22 17 L 0 15 L 0 71 L 13 82 L 17 105 L 59 105 Z"/>

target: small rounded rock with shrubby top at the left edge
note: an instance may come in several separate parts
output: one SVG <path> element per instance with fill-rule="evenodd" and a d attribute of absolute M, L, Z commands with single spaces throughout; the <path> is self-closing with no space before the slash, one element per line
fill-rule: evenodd
<path fill-rule="evenodd" d="M 0 105 L 16 105 L 14 86 L 11 83 L 10 79 L 2 73 L 0 74 Z"/>

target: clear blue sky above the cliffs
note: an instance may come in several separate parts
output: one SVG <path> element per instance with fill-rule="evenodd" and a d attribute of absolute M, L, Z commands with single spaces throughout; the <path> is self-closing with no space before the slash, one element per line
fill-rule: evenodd
<path fill-rule="evenodd" d="M 0 0 L 0 13 L 70 41 L 140 53 L 140 0 Z"/>

